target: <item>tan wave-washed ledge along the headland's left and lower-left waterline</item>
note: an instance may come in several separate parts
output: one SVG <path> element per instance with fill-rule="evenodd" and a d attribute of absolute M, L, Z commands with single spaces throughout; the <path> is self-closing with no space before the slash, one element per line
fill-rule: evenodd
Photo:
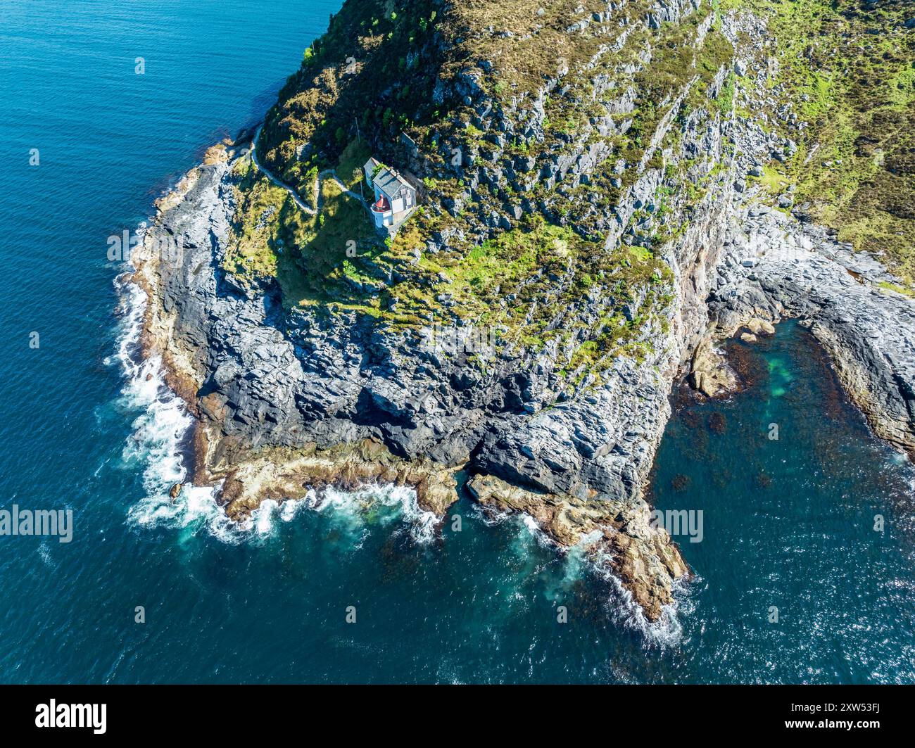
<path fill-rule="evenodd" d="M 212 152 L 210 149 L 208 155 Z M 447 468 L 425 458 L 402 459 L 371 438 L 354 443 L 258 448 L 222 438 L 224 434 L 216 433 L 218 429 L 214 432 L 228 409 L 225 403 L 203 394 L 202 367 L 209 339 L 196 339 L 202 327 L 185 324 L 194 318 L 191 315 L 205 310 L 182 305 L 180 300 L 190 298 L 190 284 L 201 280 L 201 273 L 208 281 L 206 288 L 213 288 L 218 268 L 211 252 L 224 242 L 232 210 L 231 191 L 224 187 L 231 182 L 233 160 L 247 153 L 247 148 L 218 148 L 210 155 L 210 163 L 191 169 L 156 202 L 152 230 L 132 258 L 135 272 L 131 280 L 147 296 L 140 337 L 142 355 L 161 359 L 167 386 L 195 416 L 190 465 L 193 483 L 221 483 L 218 500 L 227 516 L 235 520 L 250 516 L 267 498 L 283 501 L 303 497 L 309 489 L 324 486 L 354 490 L 382 484 L 411 486 L 421 508 L 439 517 L 444 515 L 456 499 L 454 472 L 459 465 Z M 188 262 L 194 263 L 192 268 Z M 201 301 L 199 296 L 194 299 Z M 210 301 L 215 300 L 214 294 Z M 218 319 L 212 311 L 207 316 L 210 321 Z M 202 323 L 203 318 L 197 320 Z M 214 454 L 218 454 L 215 460 Z"/>

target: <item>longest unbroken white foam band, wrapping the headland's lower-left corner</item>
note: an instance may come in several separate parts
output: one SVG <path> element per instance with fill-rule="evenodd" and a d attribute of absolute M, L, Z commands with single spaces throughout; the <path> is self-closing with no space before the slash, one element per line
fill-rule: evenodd
<path fill-rule="evenodd" d="M 193 426 L 184 401 L 169 390 L 159 357 L 142 358 L 140 334 L 146 296 L 135 283 L 118 281 L 124 317 L 113 360 L 124 371 L 122 402 L 139 411 L 133 423 L 134 434 L 124 446 L 123 462 L 143 470 L 145 496 L 128 511 L 128 522 L 135 528 L 185 530 L 184 538 L 203 531 L 227 543 L 258 542 L 272 535 L 279 523 L 296 518 L 300 508 L 331 510 L 335 521 L 348 525 L 354 538 L 364 537 L 371 524 L 403 520 L 417 543 L 428 543 L 436 536 L 437 518 L 419 508 L 416 492 L 405 486 L 368 486 L 346 492 L 328 488 L 316 494 L 309 491 L 302 499 L 282 503 L 265 500 L 250 518 L 235 522 L 216 501 L 221 486 L 186 484 L 186 449 Z M 168 496 L 176 483 L 184 484 L 177 498 Z M 379 511 L 380 510 L 380 511 Z"/>

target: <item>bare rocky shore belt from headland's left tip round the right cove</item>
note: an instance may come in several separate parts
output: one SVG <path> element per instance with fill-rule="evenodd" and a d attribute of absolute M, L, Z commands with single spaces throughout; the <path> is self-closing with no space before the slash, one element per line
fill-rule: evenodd
<path fill-rule="evenodd" d="M 665 10 L 672 23 L 699 4 L 674 5 Z M 737 33 L 733 24 L 726 30 Z M 735 65 L 764 89 L 764 63 Z M 718 71 L 710 97 L 728 72 Z M 207 163 L 159 201 L 132 258 L 134 282 L 148 297 L 144 353 L 162 358 L 169 387 L 196 418 L 194 483 L 221 485 L 218 500 L 235 519 L 267 498 L 379 483 L 413 486 L 420 507 L 442 517 L 457 499 L 455 473 L 466 469 L 480 504 L 531 516 L 561 548 L 587 540 L 656 621 L 688 570 L 668 533 L 651 524 L 645 488 L 674 380 L 689 377 L 707 396 L 736 386 L 717 353 L 723 340 L 752 340 L 780 319 L 800 317 L 875 432 L 912 454 L 915 304 L 881 285 L 892 279 L 874 258 L 849 251 L 800 213 L 762 205 L 746 175 L 786 144 L 740 117 L 686 112 L 692 82 L 651 137 L 651 150 L 660 151 L 676 128 L 679 153 L 668 147 L 663 158 L 703 155 L 694 176 L 709 182 L 688 211 L 673 208 L 685 229 L 662 248 L 672 300 L 662 315 L 645 315 L 641 356 L 619 355 L 599 373 L 586 371 L 573 389 L 560 376 L 568 352 L 554 340 L 446 355 L 423 345 L 428 326 L 417 336 L 355 312 L 287 309 L 274 281 L 242 283 L 224 261 L 237 208 L 235 167 L 250 159 L 250 144 L 210 149 Z M 563 162 L 576 183 L 596 166 L 585 155 Z M 655 208 L 662 187 L 650 156 L 634 167 L 638 178 L 608 219 L 608 247 L 638 247 L 637 233 L 625 227 L 651 225 L 651 215 L 639 218 Z M 491 170 L 481 166 L 475 179 Z M 498 222 L 487 230 L 498 233 Z M 429 251 L 448 240 L 430 241 Z M 606 305 L 598 291 L 582 294 L 551 324 L 592 325 Z M 645 294 L 627 305 L 630 319 L 640 305 L 648 306 Z"/>

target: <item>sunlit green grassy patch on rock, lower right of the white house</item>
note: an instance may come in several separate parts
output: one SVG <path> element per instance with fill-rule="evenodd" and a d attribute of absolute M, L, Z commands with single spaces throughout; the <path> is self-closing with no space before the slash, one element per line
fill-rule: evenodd
<path fill-rule="evenodd" d="M 562 347 L 576 347 L 577 363 L 569 371 L 583 363 L 587 370 L 597 371 L 619 353 L 644 353 L 637 345 L 643 327 L 673 298 L 673 275 L 651 251 L 626 246 L 607 251 L 602 243 L 537 216 L 467 255 L 424 255 L 420 264 L 430 275 L 447 278 L 436 285 L 436 296 L 445 294 L 462 314 L 481 325 L 501 328 L 503 340 L 536 349 L 558 338 Z M 606 314 L 591 326 L 558 325 L 597 284 L 603 290 Z M 647 295 L 639 305 L 637 296 L 643 289 L 648 289 Z M 402 290 L 407 287 L 394 286 L 392 293 Z M 414 312 L 420 315 L 424 310 L 418 305 L 432 310 L 439 306 L 437 299 L 415 295 L 404 297 L 404 305 L 410 304 L 417 305 Z M 619 312 L 629 304 L 640 310 L 631 320 Z"/>

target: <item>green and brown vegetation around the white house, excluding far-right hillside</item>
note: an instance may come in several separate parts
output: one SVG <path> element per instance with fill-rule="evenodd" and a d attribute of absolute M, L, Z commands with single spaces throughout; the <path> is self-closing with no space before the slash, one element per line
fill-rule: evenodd
<path fill-rule="evenodd" d="M 706 5 L 682 24 L 648 28 L 641 19 L 651 3 L 631 0 L 615 12 L 628 16 L 631 28 L 612 53 L 605 49 L 607 33 L 623 27 L 619 18 L 582 34 L 567 29 L 570 17 L 589 18 L 606 11 L 606 3 L 548 5 L 538 14 L 536 0 L 468 0 L 443 13 L 435 0 L 349 0 L 286 82 L 264 124 L 259 155 L 310 204 L 316 178 L 328 169 L 357 192 L 370 155 L 403 169 L 404 132 L 425 160 L 426 205 L 395 240 L 382 242 L 358 201 L 341 195 L 330 179 L 320 179 L 320 210 L 311 217 L 282 190 L 246 174 L 227 269 L 242 277 L 274 275 L 289 307 L 355 310 L 387 326 L 459 316 L 498 327 L 503 344 L 535 349 L 555 340 L 570 359 L 566 373 L 574 383 L 619 354 L 648 353 L 646 326 L 666 327 L 673 300 L 672 273 L 654 249 L 661 234 L 640 230 L 635 246 L 605 249 L 605 232 L 593 221 L 617 207 L 639 176 L 643 155 L 646 168 L 663 169 L 660 149 L 645 153 L 655 130 L 684 92 L 694 105 L 712 105 L 705 91 L 732 50 L 718 30 L 705 34 L 712 12 Z M 647 50 L 651 63 L 641 69 Z M 600 56 L 609 72 L 616 70 L 610 92 L 595 90 L 591 61 Z M 478 67 L 477 60 L 496 63 Z M 459 94 L 468 69 L 472 85 L 489 94 L 500 115 L 510 100 L 521 101 L 522 111 L 533 106 L 533 95 L 522 94 L 540 91 L 544 79 L 561 81 L 544 100 L 544 137 L 516 136 L 505 144 L 503 163 L 595 143 L 592 123 L 606 114 L 601 100 L 631 88 L 634 111 L 619 115 L 620 123 L 630 121 L 628 132 L 613 139 L 613 154 L 577 187 L 546 185 L 536 178 L 537 166 L 525 195 L 502 179 L 479 186 L 468 202 L 465 180 L 448 154 L 453 146 L 468 156 L 493 149 L 492 131 Z M 443 83 L 458 95 L 437 95 Z M 619 158 L 626 165 L 621 174 Z M 504 216 L 506 202 L 522 198 L 531 205 L 544 201 L 548 210 L 525 210 L 490 240 L 460 239 L 468 219 Z M 462 200 L 459 207 L 440 208 L 453 199 Z M 666 220 L 662 214 L 655 219 Z M 443 234 L 451 237 L 445 246 L 427 252 L 429 238 Z M 350 241 L 359 247 L 354 255 L 346 252 Z M 564 322 L 589 318 L 581 315 L 586 306 L 603 311 L 587 323 Z"/>

